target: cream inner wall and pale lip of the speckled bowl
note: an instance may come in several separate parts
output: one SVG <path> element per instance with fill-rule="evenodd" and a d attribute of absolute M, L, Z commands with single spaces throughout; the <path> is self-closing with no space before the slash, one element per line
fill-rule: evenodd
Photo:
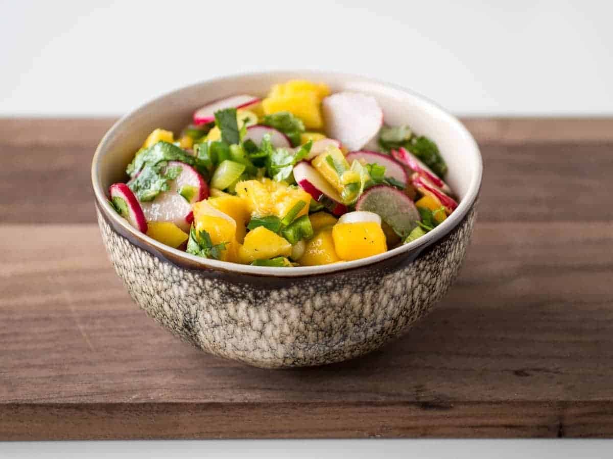
<path fill-rule="evenodd" d="M 402 250 L 411 250 L 438 239 L 451 226 L 462 220 L 476 198 L 482 172 L 479 148 L 468 130 L 451 114 L 406 89 L 360 76 L 331 72 L 267 72 L 229 76 L 178 89 L 137 108 L 118 121 L 98 146 L 92 169 L 94 192 L 96 192 L 97 199 L 99 202 L 104 202 L 109 186 L 125 179 L 126 165 L 132 160 L 134 152 L 139 149 L 152 130 L 162 127 L 178 132 L 191 121 L 194 110 L 207 102 L 239 93 L 263 97 L 272 84 L 295 78 L 327 83 L 333 92 L 348 90 L 372 95 L 383 109 L 386 124 L 408 124 L 414 132 L 432 138 L 438 144 L 449 166 L 446 181 L 459 196 L 460 206 L 445 222 L 417 241 L 380 255 L 347 263 L 287 269 L 244 266 L 197 258 L 179 251 L 177 253 L 190 259 L 196 259 L 204 265 L 249 274 L 274 273 L 283 276 L 314 274 L 362 266 L 393 256 Z M 115 217 L 130 231 L 137 233 L 137 230 L 129 226 L 121 217 L 118 215 Z M 151 244 L 161 245 L 154 239 L 143 236 L 142 233 L 139 234 Z"/>

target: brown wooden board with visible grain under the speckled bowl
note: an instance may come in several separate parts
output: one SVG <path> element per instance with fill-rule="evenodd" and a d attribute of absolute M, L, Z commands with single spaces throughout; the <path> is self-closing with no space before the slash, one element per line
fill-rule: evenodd
<path fill-rule="evenodd" d="M 362 359 L 260 370 L 147 318 L 94 220 L 110 119 L 0 119 L 0 439 L 613 435 L 613 119 L 466 120 L 462 273 Z"/>

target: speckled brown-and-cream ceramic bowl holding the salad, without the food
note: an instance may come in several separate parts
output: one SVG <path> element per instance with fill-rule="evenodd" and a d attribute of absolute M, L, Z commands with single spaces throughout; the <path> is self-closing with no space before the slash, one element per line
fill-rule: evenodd
<path fill-rule="evenodd" d="M 327 266 L 275 268 L 188 255 L 120 218 L 106 190 L 153 129 L 180 130 L 196 108 L 237 93 L 264 95 L 291 78 L 333 91 L 371 94 L 387 124 L 409 124 L 438 143 L 457 210 L 411 244 Z M 321 365 L 351 359 L 397 337 L 443 297 L 470 239 L 481 185 L 481 155 L 453 116 L 405 89 L 362 76 L 268 72 L 194 84 L 137 108 L 109 130 L 92 165 L 98 222 L 115 271 L 135 302 L 173 334 L 216 356 L 257 367 Z"/>

